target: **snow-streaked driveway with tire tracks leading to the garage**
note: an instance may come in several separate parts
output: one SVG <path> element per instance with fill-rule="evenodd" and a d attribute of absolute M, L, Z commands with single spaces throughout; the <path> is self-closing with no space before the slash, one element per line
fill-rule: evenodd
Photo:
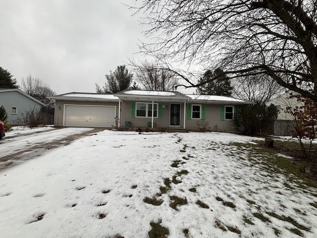
<path fill-rule="evenodd" d="M 75 139 L 94 135 L 105 128 L 53 128 L 16 134 L 10 131 L 0 140 L 0 170 L 40 156 L 50 149 L 66 146 Z"/>

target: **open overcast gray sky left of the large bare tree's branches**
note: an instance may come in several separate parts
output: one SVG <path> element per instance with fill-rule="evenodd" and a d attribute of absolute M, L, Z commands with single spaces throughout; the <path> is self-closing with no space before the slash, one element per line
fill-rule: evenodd
<path fill-rule="evenodd" d="M 0 0 L 0 66 L 57 94 L 95 92 L 109 70 L 138 59 L 145 39 L 121 2 L 135 0 Z"/>

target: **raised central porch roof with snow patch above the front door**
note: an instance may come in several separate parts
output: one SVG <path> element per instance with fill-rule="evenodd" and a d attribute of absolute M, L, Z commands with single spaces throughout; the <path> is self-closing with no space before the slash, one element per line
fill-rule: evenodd
<path fill-rule="evenodd" d="M 177 91 L 149 91 L 149 90 L 133 90 L 126 89 L 114 94 L 120 99 L 133 100 L 156 100 L 156 101 L 173 101 L 173 100 L 188 100 L 188 96 Z"/>

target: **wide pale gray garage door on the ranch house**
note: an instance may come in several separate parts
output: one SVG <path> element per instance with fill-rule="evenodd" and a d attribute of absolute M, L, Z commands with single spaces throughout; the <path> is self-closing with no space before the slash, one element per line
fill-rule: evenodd
<path fill-rule="evenodd" d="M 115 107 L 65 105 L 65 126 L 113 127 Z"/>

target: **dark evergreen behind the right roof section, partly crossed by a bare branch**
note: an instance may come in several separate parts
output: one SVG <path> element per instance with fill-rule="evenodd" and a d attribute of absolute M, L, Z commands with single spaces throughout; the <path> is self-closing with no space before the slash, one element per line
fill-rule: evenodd
<path fill-rule="evenodd" d="M 212 72 L 207 70 L 204 76 L 199 80 L 199 83 L 207 82 L 202 86 L 199 86 L 196 92 L 200 95 L 218 95 L 230 97 L 233 87 L 231 86 L 230 79 L 224 74 L 218 77 L 216 80 L 210 81 L 213 77 L 223 74 L 223 70 L 217 68 Z"/>

